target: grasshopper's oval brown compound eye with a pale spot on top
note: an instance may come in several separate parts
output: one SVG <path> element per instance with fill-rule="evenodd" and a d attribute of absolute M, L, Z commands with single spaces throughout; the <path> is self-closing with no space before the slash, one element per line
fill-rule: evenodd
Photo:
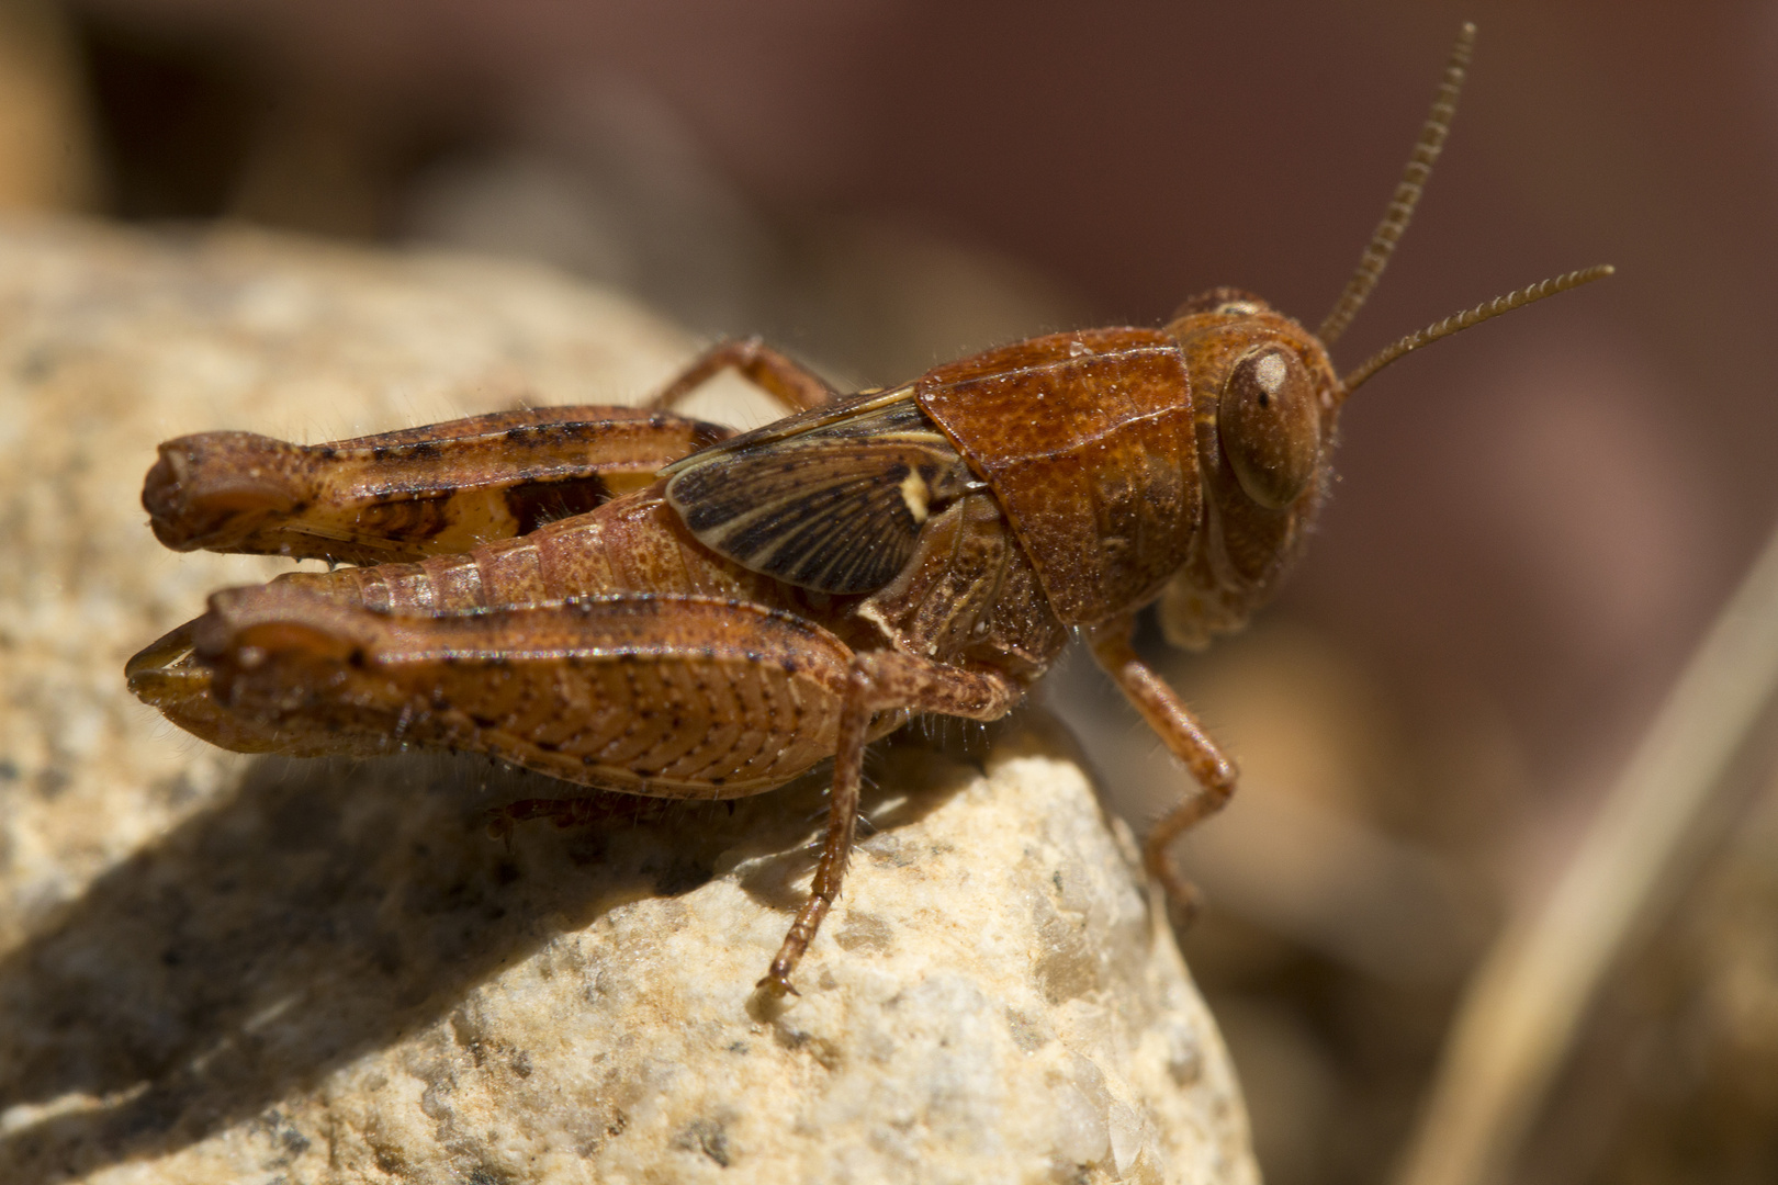
<path fill-rule="evenodd" d="M 1216 412 L 1223 457 L 1241 489 L 1284 510 L 1309 489 L 1321 460 L 1321 414 L 1309 370 L 1289 350 L 1261 346 L 1234 364 Z"/>

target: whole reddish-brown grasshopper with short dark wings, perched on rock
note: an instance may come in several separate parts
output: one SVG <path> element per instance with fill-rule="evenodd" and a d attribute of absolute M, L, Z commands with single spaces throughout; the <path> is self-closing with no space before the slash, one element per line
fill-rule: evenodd
<path fill-rule="evenodd" d="M 738 798 L 827 759 L 809 901 L 761 981 L 789 975 L 839 894 L 864 748 L 912 716 L 1005 714 L 1079 629 L 1200 791 L 1234 764 L 1131 647 L 1159 602 L 1202 647 L 1278 585 L 1326 496 L 1341 403 L 1403 354 L 1574 272 L 1383 350 L 1326 346 L 1374 286 L 1437 158 L 1460 34 L 1364 259 L 1310 334 L 1232 288 L 1165 329 L 1033 338 L 841 396 L 757 341 L 717 346 L 645 409 L 555 407 L 295 446 L 240 432 L 160 446 L 142 503 L 178 551 L 348 561 L 210 599 L 130 688 L 238 752 L 487 753 L 565 782 Z M 791 416 L 733 435 L 670 409 L 734 368 Z M 530 814 L 573 815 L 573 801 Z"/>

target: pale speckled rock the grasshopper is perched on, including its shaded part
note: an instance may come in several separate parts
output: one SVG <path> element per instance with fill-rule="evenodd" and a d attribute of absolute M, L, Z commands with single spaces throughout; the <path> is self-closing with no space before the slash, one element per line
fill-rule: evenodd
<path fill-rule="evenodd" d="M 503 846 L 487 808 L 560 783 L 249 760 L 124 693 L 279 567 L 158 549 L 156 441 L 622 402 L 686 350 L 532 268 L 0 227 L 0 1180 L 1255 1180 L 1129 839 L 1037 718 L 884 746 L 777 1002 L 818 778 Z"/>

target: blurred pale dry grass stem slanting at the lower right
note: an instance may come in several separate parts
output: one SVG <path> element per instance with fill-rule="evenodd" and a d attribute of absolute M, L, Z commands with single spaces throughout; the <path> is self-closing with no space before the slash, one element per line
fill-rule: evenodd
<path fill-rule="evenodd" d="M 1549 897 L 1495 942 L 1398 1185 L 1501 1180 L 1604 974 L 1778 688 L 1778 533 L 1693 654 Z"/>

